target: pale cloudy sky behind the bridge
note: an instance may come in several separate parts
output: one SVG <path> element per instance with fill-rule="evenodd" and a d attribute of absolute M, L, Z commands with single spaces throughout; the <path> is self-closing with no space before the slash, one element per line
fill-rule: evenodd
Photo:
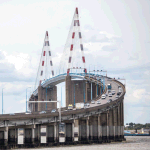
<path fill-rule="evenodd" d="M 26 110 L 26 89 L 31 87 L 27 89 L 29 97 L 46 31 L 54 72 L 58 74 L 63 53 L 67 52 L 65 44 L 71 40 L 67 37 L 76 7 L 88 71 L 90 66 L 90 70 L 107 70 L 110 77 L 125 78 L 125 123 L 150 123 L 149 0 L 0 0 L 4 113 Z M 60 99 L 61 86 L 65 99 L 64 83 L 58 85 L 57 96 Z"/>

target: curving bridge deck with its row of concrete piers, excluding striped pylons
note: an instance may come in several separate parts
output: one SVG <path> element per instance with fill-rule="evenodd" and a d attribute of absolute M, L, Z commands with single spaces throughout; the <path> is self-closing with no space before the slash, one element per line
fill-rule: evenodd
<path fill-rule="evenodd" d="M 92 74 L 70 74 L 70 76 L 63 74 L 45 81 L 41 86 L 42 88 L 53 87 L 65 81 L 67 94 L 68 82 L 72 82 L 71 77 L 78 77 L 85 81 L 85 102 L 89 102 L 90 107 L 69 111 L 67 107 L 62 108 L 61 124 L 58 110 L 54 113 L 47 110 L 43 114 L 40 114 L 39 111 L 33 111 L 30 114 L 0 115 L 0 149 L 124 140 L 125 86 L 115 79 Z M 68 80 L 68 78 L 70 79 Z M 116 94 L 113 95 L 111 102 L 108 102 L 108 96 L 106 96 L 106 99 L 101 99 L 102 94 L 108 93 L 106 87 L 108 83 L 111 83 L 112 89 L 116 93 L 118 92 L 118 86 L 122 89 L 121 95 L 118 98 L 116 98 Z M 92 104 L 91 99 L 88 99 L 89 84 L 93 86 L 92 90 L 95 93 L 92 100 L 100 101 L 100 104 Z M 38 96 L 38 92 L 39 90 L 34 91 L 35 97 Z"/>

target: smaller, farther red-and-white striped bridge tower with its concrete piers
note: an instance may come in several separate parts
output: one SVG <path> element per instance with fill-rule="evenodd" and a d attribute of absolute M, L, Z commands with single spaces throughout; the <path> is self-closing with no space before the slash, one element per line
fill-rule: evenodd
<path fill-rule="evenodd" d="M 48 31 L 45 33 L 43 49 L 41 53 L 40 64 L 35 82 L 35 89 L 38 89 L 37 96 L 31 96 L 30 101 L 55 101 L 57 100 L 57 87 L 42 87 L 42 83 L 54 76 L 53 62 L 51 56 Z M 31 111 L 44 111 L 57 108 L 57 103 L 30 103 Z"/>

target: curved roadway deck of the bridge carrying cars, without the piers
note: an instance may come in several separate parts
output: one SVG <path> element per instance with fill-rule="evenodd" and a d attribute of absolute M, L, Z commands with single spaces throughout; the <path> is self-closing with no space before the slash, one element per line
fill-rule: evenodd
<path fill-rule="evenodd" d="M 64 75 L 65 76 L 65 75 Z M 72 74 L 73 77 L 75 77 L 73 74 Z M 79 76 L 76 74 L 76 77 Z M 100 76 L 99 76 L 100 77 Z M 99 78 L 98 77 L 98 78 Z M 96 77 L 94 77 L 93 75 L 90 74 L 90 78 L 89 78 L 89 75 L 86 75 L 85 77 L 83 76 L 83 74 L 81 75 L 80 78 L 83 78 L 83 79 L 86 79 L 90 82 L 94 82 L 94 83 L 98 83 L 98 84 L 102 84 L 101 81 L 97 80 Z M 104 77 L 103 77 L 104 78 Z M 56 78 L 55 78 L 56 79 Z M 94 112 L 96 113 L 96 111 L 98 113 L 102 113 L 102 112 L 105 112 L 107 111 L 108 109 L 111 109 L 112 107 L 115 107 L 116 105 L 118 105 L 119 102 L 122 101 L 124 95 L 125 95 L 125 86 L 117 81 L 117 80 L 113 80 L 110 81 L 111 78 L 108 78 L 108 77 L 105 77 L 105 85 L 107 85 L 108 83 L 111 83 L 111 86 L 112 86 L 112 90 L 115 90 L 116 93 L 118 92 L 118 86 L 121 86 L 122 88 L 122 93 L 120 95 L 119 98 L 116 98 L 116 93 L 115 95 L 113 95 L 112 97 L 108 97 L 106 96 L 106 99 L 101 99 L 101 96 L 99 95 L 98 97 L 96 97 L 94 100 L 97 101 L 97 100 L 100 100 L 101 104 L 90 104 L 90 107 L 89 108 L 86 108 L 86 109 L 77 109 L 77 110 L 71 110 L 71 111 L 64 111 L 65 109 L 67 108 L 62 108 L 62 112 L 61 112 L 61 115 L 62 115 L 62 118 L 63 116 L 70 116 L 70 115 L 76 115 L 79 117 L 80 114 L 87 114 L 87 113 L 90 113 L 90 112 Z M 54 80 L 53 80 L 54 81 Z M 58 82 L 58 81 L 57 81 Z M 49 81 L 50 83 L 50 81 Z M 53 82 L 53 83 L 56 83 Z M 43 86 L 46 86 L 48 85 L 48 83 L 43 83 Z M 107 88 L 105 88 L 105 91 L 104 93 L 107 93 Z M 107 101 L 109 99 L 112 99 L 112 102 L 108 103 Z M 92 114 L 92 113 L 91 113 Z M 58 111 L 55 112 L 55 113 L 51 113 L 51 111 L 47 111 L 46 113 L 44 114 L 39 114 L 39 112 L 33 112 L 31 114 L 25 114 L 25 113 L 16 113 L 15 115 L 10 115 L 10 114 L 4 114 L 4 115 L 0 115 L 0 121 L 3 121 L 3 120 L 23 120 L 23 119 L 38 119 L 38 118 L 50 118 L 50 117 L 57 117 L 57 120 L 58 121 Z M 71 118 L 70 118 L 71 119 Z M 1 125 L 0 125 L 1 126 Z"/>

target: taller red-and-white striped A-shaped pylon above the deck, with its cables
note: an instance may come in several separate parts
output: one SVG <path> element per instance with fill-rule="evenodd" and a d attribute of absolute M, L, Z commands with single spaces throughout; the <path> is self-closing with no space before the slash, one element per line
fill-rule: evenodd
<path fill-rule="evenodd" d="M 68 63 L 68 66 L 66 63 Z M 75 65 L 75 63 L 77 63 L 77 65 Z M 84 72 L 87 73 L 87 69 L 85 65 L 85 56 L 83 51 L 83 44 L 82 44 L 82 36 L 80 31 L 78 8 L 75 9 L 69 35 L 64 48 L 64 53 L 61 58 L 60 69 L 63 69 L 63 67 L 65 66 L 67 66 L 67 75 L 69 75 L 71 68 L 74 69 L 82 68 L 84 69 Z"/>

